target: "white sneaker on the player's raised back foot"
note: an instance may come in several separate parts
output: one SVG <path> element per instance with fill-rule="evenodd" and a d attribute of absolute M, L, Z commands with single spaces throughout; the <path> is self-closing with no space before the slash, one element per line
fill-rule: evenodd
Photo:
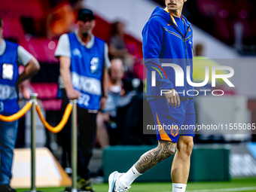
<path fill-rule="evenodd" d="M 112 172 L 108 177 L 108 192 L 128 192 L 128 189 L 130 189 L 130 186 L 127 187 L 125 184 L 120 184 L 118 182 L 120 176 L 123 175 L 123 173 L 120 172 Z"/>

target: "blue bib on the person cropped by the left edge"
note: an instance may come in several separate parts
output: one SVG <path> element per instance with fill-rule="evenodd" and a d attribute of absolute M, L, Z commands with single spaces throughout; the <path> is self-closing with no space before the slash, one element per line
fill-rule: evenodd
<path fill-rule="evenodd" d="M 11 115 L 19 110 L 17 94 L 17 78 L 19 77 L 17 64 L 17 47 L 6 41 L 5 53 L 0 55 L 0 114 Z"/>

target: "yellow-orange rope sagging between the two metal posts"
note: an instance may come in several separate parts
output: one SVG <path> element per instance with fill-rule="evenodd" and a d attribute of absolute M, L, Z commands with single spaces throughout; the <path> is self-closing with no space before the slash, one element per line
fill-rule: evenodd
<path fill-rule="evenodd" d="M 44 124 L 44 126 L 47 128 L 47 130 L 49 130 L 51 133 L 59 133 L 63 129 L 63 127 L 66 125 L 66 123 L 68 122 L 69 115 L 71 114 L 73 105 L 70 103 L 67 105 L 65 113 L 63 114 L 62 120 L 55 127 L 50 126 L 50 124 L 47 123 L 47 121 L 44 119 L 43 115 L 41 114 L 41 110 L 38 105 L 36 105 L 35 108 L 36 108 L 36 111 L 38 111 L 38 116 L 40 117 L 41 122 Z"/>

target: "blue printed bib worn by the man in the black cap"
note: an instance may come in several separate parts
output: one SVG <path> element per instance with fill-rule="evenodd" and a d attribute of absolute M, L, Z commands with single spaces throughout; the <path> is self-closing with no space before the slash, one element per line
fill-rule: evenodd
<path fill-rule="evenodd" d="M 94 39 L 93 47 L 84 47 L 76 38 L 75 33 L 69 33 L 72 85 L 80 91 L 78 106 L 90 110 L 98 110 L 102 98 L 102 74 L 104 63 L 105 42 Z"/>

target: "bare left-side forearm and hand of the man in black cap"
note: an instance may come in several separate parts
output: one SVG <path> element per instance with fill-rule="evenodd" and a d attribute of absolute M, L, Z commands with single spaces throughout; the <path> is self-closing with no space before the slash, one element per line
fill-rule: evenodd
<path fill-rule="evenodd" d="M 78 99 L 80 92 L 75 90 L 72 84 L 71 72 L 70 72 L 71 59 L 67 56 L 59 57 L 59 72 L 62 77 L 63 84 L 69 99 Z"/>

